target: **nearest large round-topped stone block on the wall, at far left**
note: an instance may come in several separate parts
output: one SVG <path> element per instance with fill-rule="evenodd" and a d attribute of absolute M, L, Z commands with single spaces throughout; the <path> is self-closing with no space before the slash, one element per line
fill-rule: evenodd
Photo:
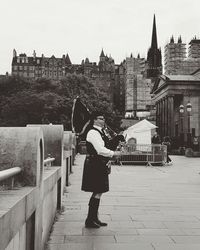
<path fill-rule="evenodd" d="M 0 128 L 0 170 L 21 168 L 17 181 L 22 186 L 41 184 L 44 141 L 40 128 Z"/>

